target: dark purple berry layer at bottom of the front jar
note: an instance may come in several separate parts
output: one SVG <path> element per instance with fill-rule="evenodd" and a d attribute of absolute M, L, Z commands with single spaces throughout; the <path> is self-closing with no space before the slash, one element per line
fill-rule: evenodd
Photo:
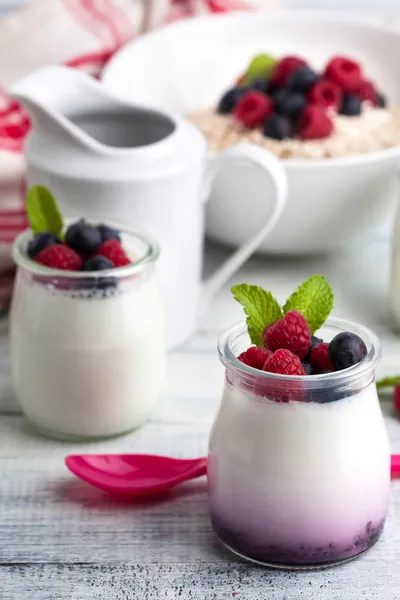
<path fill-rule="evenodd" d="M 215 513 L 211 515 L 213 529 L 219 539 L 232 550 L 260 563 L 282 567 L 329 566 L 354 558 L 371 548 L 380 538 L 385 520 L 372 523 L 354 532 L 346 544 L 334 540 L 325 545 L 310 546 L 308 543 L 293 541 L 293 545 L 269 543 L 228 524 Z"/>

